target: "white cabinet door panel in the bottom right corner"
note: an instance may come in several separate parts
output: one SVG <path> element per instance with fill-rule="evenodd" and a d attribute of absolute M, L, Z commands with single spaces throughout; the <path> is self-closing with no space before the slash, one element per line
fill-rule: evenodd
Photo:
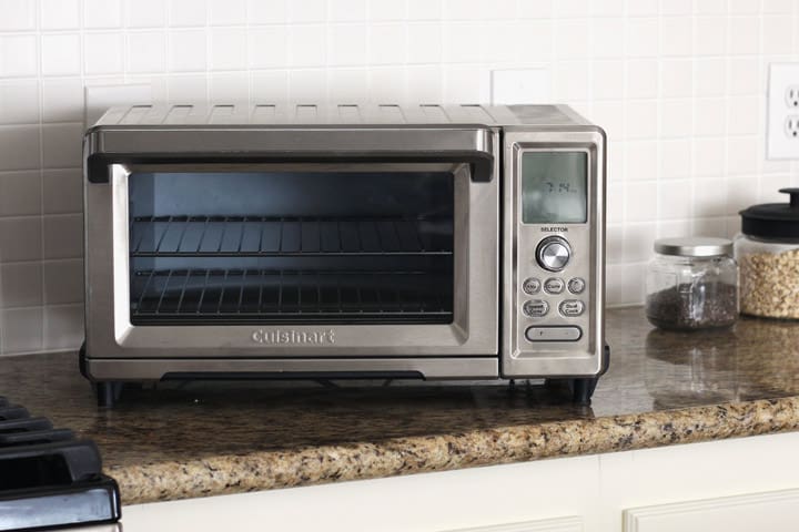
<path fill-rule="evenodd" d="M 625 532 L 788 532 L 799 522 L 799 490 L 677 502 L 625 510 Z"/>

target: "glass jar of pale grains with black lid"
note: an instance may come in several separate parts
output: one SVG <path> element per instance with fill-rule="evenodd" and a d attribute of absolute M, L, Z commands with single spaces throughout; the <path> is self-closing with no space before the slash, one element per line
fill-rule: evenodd
<path fill-rule="evenodd" d="M 741 211 L 735 241 L 740 264 L 741 313 L 799 319 L 799 188 L 781 188 L 790 203 Z"/>

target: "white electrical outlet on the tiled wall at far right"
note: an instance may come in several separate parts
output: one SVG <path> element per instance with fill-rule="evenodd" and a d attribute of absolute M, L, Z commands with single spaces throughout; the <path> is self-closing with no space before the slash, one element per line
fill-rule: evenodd
<path fill-rule="evenodd" d="M 768 86 L 768 158 L 799 158 L 799 63 L 771 63 Z"/>

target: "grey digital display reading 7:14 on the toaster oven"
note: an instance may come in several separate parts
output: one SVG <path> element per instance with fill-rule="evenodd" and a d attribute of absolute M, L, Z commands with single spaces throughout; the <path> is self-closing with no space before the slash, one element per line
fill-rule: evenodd
<path fill-rule="evenodd" d="M 585 224 L 588 197 L 586 152 L 522 154 L 522 222 Z"/>

